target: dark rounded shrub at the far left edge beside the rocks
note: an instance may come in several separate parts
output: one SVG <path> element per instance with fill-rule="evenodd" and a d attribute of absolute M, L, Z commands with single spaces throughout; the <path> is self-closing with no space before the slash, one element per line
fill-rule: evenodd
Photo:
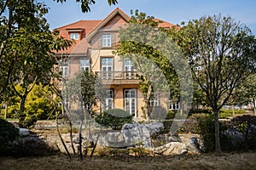
<path fill-rule="evenodd" d="M 15 125 L 0 118 L 0 150 L 9 150 L 11 142 L 20 136 Z"/>

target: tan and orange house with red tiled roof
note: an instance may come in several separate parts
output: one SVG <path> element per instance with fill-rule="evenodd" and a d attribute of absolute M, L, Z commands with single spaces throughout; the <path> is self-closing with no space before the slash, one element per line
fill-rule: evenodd
<path fill-rule="evenodd" d="M 79 20 L 56 28 L 60 36 L 73 39 L 76 43 L 55 55 L 63 77 L 73 77 L 76 72 L 90 70 L 108 84 L 106 105 L 100 110 L 120 108 L 141 120 L 143 94 L 139 90 L 136 71 L 129 59 L 123 60 L 113 54 L 119 42 L 119 27 L 125 26 L 128 20 L 130 17 L 127 14 L 115 8 L 103 20 Z M 160 23 L 160 27 L 171 26 L 168 22 Z M 154 105 L 158 105 L 158 101 L 154 101 Z M 178 109 L 177 105 L 175 109 Z"/>

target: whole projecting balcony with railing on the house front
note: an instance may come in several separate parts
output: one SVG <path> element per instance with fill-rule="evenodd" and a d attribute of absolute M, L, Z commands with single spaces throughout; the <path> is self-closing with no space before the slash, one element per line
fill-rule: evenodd
<path fill-rule="evenodd" d="M 103 84 L 137 84 L 140 80 L 136 71 L 96 71 Z"/>

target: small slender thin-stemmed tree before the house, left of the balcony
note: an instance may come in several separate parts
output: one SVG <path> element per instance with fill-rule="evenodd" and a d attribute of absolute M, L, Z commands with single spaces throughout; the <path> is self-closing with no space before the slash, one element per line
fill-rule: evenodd
<path fill-rule="evenodd" d="M 67 81 L 63 96 L 68 98 L 69 106 L 66 107 L 67 116 L 70 120 L 79 121 L 79 157 L 83 159 L 82 153 L 82 127 L 85 125 L 86 133 L 90 133 L 90 117 L 96 106 L 96 75 L 92 71 L 81 71 Z M 87 154 L 89 141 L 85 142 L 85 155 Z"/>

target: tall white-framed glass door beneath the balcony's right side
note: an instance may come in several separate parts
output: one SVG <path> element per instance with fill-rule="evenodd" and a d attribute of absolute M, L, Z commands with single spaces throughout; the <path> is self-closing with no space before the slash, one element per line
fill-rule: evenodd
<path fill-rule="evenodd" d="M 125 111 L 136 116 L 137 113 L 137 90 L 125 89 Z"/>

